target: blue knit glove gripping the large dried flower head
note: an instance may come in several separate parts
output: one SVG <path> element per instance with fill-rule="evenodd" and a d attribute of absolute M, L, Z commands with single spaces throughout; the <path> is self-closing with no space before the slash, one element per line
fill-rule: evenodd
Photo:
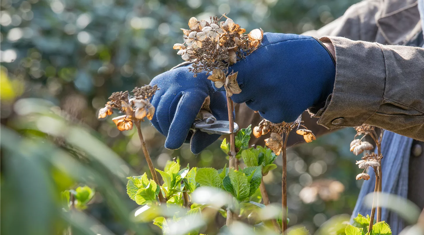
<path fill-rule="evenodd" d="M 238 71 L 242 90 L 232 100 L 245 102 L 273 123 L 293 122 L 306 109 L 325 101 L 335 80 L 335 63 L 325 46 L 313 37 L 296 34 L 265 33 L 262 45 L 232 70 Z"/>

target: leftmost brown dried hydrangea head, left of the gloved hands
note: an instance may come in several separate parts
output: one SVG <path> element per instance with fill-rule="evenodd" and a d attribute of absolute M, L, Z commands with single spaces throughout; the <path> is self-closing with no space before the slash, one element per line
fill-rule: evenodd
<path fill-rule="evenodd" d="M 114 92 L 109 97 L 105 107 L 99 110 L 98 118 L 112 115 L 112 109 L 118 109 L 125 115 L 114 117 L 112 121 L 120 131 L 131 130 L 134 121 L 144 121 L 145 117 L 149 120 L 152 119 L 155 107 L 150 103 L 150 99 L 157 89 L 156 85 L 135 87 L 132 91 L 134 96 L 130 96 L 128 91 Z"/>

